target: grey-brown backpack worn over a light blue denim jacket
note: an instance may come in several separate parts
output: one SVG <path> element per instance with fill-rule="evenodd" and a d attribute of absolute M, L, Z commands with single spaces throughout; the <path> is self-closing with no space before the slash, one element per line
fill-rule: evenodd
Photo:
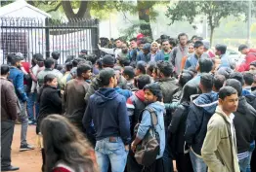
<path fill-rule="evenodd" d="M 149 167 L 149 165 L 155 161 L 156 156 L 160 153 L 159 134 L 155 130 L 155 125 L 158 121 L 152 108 L 147 107 L 141 112 L 139 123 L 137 123 L 134 127 L 134 133 L 135 135 L 137 134 L 140 121 L 142 120 L 143 113 L 146 110 L 149 111 L 150 114 L 151 126 L 149 127 L 149 130 L 142 142 L 137 145 L 134 156 L 139 164 Z"/>

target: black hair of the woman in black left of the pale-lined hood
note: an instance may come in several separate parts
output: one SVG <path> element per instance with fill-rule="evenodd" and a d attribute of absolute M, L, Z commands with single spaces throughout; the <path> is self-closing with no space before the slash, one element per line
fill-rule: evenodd
<path fill-rule="evenodd" d="M 191 101 L 191 96 L 193 94 L 197 94 L 198 93 L 198 89 L 197 86 L 192 84 L 192 83 L 187 83 L 184 87 L 183 87 L 183 94 L 181 97 L 181 102 L 184 101 Z"/>

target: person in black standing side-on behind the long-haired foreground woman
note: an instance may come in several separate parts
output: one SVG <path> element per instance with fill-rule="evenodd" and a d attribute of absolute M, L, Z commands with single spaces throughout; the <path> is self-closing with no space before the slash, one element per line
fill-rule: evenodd
<path fill-rule="evenodd" d="M 38 145 L 42 152 L 42 170 L 44 169 L 45 164 L 45 151 L 42 144 L 40 124 L 42 120 L 51 114 L 62 114 L 61 92 L 57 89 L 57 86 L 57 77 L 53 74 L 47 74 L 44 77 L 44 85 L 40 88 L 38 95 L 40 109 L 36 125 L 36 133 L 38 134 Z"/>

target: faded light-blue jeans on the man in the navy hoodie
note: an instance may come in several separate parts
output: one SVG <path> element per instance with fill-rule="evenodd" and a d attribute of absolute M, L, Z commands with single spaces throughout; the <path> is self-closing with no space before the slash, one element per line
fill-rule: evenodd
<path fill-rule="evenodd" d="M 120 137 L 114 138 L 115 141 L 109 141 L 107 137 L 96 142 L 95 152 L 101 172 L 107 172 L 109 162 L 111 172 L 123 172 L 125 169 L 128 151 Z"/>

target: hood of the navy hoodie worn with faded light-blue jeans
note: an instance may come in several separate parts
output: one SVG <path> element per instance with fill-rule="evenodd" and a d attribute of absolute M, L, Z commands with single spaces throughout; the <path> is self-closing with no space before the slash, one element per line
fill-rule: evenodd
<path fill-rule="evenodd" d="M 100 88 L 95 92 L 97 105 L 104 106 L 107 101 L 114 99 L 118 93 L 114 88 Z"/>

